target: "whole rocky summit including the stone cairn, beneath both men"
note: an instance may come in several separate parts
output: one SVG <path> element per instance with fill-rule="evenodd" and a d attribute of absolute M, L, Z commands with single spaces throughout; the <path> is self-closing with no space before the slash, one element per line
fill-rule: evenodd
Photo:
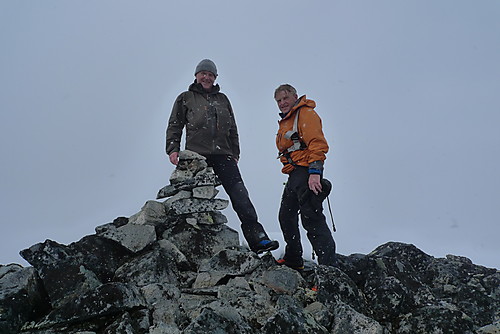
<path fill-rule="evenodd" d="M 131 217 L 0 266 L 0 333 L 500 333 L 500 274 L 389 242 L 298 272 L 239 244 L 205 159 Z M 165 199 L 165 200 L 164 200 Z"/>

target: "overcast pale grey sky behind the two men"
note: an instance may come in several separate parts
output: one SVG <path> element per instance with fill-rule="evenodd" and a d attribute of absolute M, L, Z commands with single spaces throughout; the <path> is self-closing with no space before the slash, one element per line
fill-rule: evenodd
<path fill-rule="evenodd" d="M 0 0 L 0 263 L 154 199 L 173 101 L 210 58 L 273 237 L 273 91 L 290 83 L 331 146 L 339 253 L 401 241 L 499 268 L 499 17 L 496 0 Z"/>

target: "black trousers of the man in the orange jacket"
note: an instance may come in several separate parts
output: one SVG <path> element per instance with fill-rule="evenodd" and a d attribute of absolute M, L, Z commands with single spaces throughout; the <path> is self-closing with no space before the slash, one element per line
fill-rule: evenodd
<path fill-rule="evenodd" d="M 323 214 L 323 204 L 315 200 L 315 195 L 301 203 L 305 191 L 309 191 L 309 172 L 305 167 L 297 167 L 288 176 L 281 206 L 279 221 L 285 239 L 285 260 L 291 263 L 302 261 L 302 244 L 299 231 L 299 214 L 307 238 L 318 256 L 318 263 L 336 265 L 335 241 Z"/>

